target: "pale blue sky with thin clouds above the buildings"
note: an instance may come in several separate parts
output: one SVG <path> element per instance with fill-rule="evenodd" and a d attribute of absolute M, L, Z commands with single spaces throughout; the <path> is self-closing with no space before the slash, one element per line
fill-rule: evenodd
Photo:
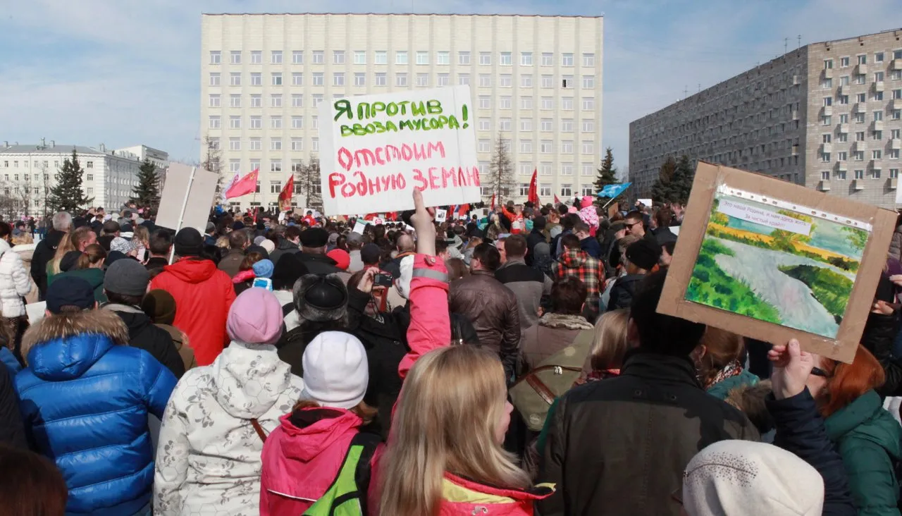
<path fill-rule="evenodd" d="M 341 12 L 604 16 L 603 147 L 630 121 L 801 43 L 902 27 L 902 0 L 342 0 Z M 198 161 L 200 14 L 326 13 L 325 0 L 0 0 L 0 141 Z M 788 40 L 787 40 L 788 38 Z M 785 47 L 786 45 L 786 47 Z"/>

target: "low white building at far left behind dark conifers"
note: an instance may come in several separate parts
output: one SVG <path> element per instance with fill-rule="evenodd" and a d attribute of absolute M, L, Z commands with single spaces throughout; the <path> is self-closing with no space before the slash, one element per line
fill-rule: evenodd
<path fill-rule="evenodd" d="M 132 197 L 145 158 L 157 164 L 158 173 L 169 166 L 168 153 L 146 145 L 107 150 L 103 143 L 93 148 L 52 140 L 49 144 L 28 145 L 4 142 L 0 146 L 0 193 L 12 199 L 18 212 L 44 215 L 56 173 L 73 149 L 84 170 L 81 180 L 85 195 L 94 198 L 93 206 L 110 210 L 117 210 Z"/>

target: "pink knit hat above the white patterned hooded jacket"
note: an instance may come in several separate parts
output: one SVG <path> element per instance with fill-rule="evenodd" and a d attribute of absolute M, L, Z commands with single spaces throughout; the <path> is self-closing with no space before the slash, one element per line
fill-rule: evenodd
<path fill-rule="evenodd" d="M 282 310 L 279 299 L 261 288 L 244 290 L 232 303 L 226 331 L 245 344 L 275 344 L 281 336 Z"/>

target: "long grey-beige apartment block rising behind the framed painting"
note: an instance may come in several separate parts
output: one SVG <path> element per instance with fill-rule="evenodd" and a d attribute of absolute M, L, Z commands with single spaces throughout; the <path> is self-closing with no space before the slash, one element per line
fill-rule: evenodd
<path fill-rule="evenodd" d="M 633 121 L 630 180 L 686 154 L 896 207 L 900 130 L 902 29 L 812 43 Z"/>

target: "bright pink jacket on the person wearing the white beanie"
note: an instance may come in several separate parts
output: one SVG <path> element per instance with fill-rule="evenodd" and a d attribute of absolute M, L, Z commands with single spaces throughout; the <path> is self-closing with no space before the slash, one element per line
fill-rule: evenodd
<path fill-rule="evenodd" d="M 296 410 L 280 420 L 263 445 L 261 516 L 307 511 L 335 480 L 363 422 L 354 412 L 331 408 Z"/>

